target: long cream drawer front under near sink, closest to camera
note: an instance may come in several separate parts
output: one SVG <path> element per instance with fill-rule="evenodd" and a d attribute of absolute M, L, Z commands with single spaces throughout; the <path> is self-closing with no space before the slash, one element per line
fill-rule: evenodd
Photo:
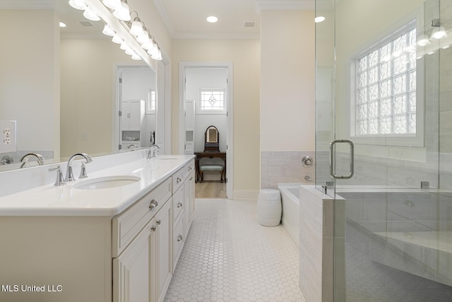
<path fill-rule="evenodd" d="M 118 257 L 141 229 L 171 197 L 172 179 L 138 199 L 131 207 L 112 219 L 112 254 Z"/>

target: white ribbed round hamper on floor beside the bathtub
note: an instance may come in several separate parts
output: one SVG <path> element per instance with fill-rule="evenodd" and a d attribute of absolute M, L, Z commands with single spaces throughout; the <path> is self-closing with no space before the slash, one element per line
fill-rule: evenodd
<path fill-rule="evenodd" d="M 263 226 L 279 226 L 282 214 L 280 191 L 262 189 L 257 199 L 258 222 Z"/>

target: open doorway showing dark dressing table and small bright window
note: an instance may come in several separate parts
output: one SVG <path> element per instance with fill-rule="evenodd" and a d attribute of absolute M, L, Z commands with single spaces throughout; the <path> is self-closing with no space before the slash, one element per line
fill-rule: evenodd
<path fill-rule="evenodd" d="M 225 165 L 224 181 L 218 170 L 197 177 L 196 198 L 232 196 L 232 64 L 182 62 L 179 87 L 179 153 L 194 154 L 196 163 L 206 156 L 219 157 Z M 215 154 L 206 154 L 210 126 L 218 129 Z"/>

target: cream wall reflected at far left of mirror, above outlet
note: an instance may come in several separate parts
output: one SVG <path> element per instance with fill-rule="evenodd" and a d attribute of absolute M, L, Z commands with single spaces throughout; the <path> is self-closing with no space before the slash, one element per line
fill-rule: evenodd
<path fill-rule="evenodd" d="M 59 158 L 59 29 L 52 10 L 0 10 L 0 120 L 17 149 Z M 20 38 L 18 38 L 20 37 Z"/>

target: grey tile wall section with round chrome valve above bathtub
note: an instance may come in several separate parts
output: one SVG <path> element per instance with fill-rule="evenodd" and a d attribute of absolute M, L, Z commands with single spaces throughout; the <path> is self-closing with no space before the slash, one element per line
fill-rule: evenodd
<path fill-rule="evenodd" d="M 261 152 L 261 188 L 278 189 L 278 183 L 281 182 L 314 184 L 315 164 L 311 167 L 302 165 L 304 156 L 314 158 L 314 155 L 314 151 Z"/>

